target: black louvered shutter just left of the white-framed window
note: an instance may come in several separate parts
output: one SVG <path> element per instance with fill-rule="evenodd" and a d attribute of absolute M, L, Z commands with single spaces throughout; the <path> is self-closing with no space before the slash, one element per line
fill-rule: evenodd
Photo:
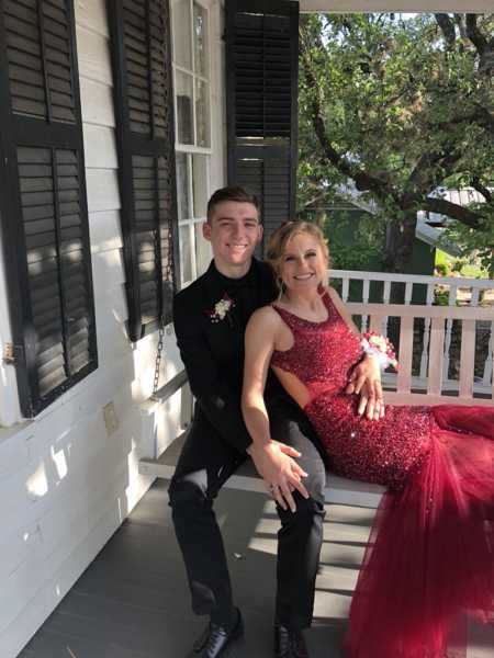
<path fill-rule="evenodd" d="M 171 319 L 178 274 L 173 92 L 167 0 L 108 3 L 128 334 Z"/>

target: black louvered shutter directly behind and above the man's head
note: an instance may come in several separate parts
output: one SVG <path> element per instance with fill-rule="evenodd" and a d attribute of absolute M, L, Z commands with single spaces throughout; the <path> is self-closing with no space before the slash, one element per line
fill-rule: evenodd
<path fill-rule="evenodd" d="M 266 243 L 295 214 L 299 2 L 225 5 L 228 183 L 259 196 Z"/>

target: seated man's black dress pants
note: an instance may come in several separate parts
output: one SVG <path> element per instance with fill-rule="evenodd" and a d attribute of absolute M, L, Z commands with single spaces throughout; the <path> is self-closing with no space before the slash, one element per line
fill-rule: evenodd
<path fill-rule="evenodd" d="M 324 452 L 306 418 L 292 405 L 269 408 L 271 435 L 299 450 L 297 462 L 308 473 L 304 485 L 310 498 L 294 492 L 296 511 L 277 506 L 277 599 L 274 621 L 290 628 L 311 625 L 315 578 L 323 541 Z M 177 538 L 186 563 L 192 609 L 215 622 L 232 619 L 233 595 L 223 540 L 213 510 L 222 485 L 247 458 L 218 436 L 205 418 L 189 430 L 169 497 Z M 254 575 L 252 575 L 254 576 Z"/>

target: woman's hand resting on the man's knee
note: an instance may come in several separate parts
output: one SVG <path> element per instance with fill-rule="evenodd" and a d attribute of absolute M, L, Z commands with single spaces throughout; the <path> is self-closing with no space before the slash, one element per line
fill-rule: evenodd
<path fill-rule="evenodd" d="M 302 478 L 307 474 L 293 457 L 301 453 L 285 443 L 269 441 L 269 443 L 252 443 L 247 452 L 265 480 L 273 499 L 283 510 L 295 511 L 296 506 L 292 492 L 296 489 L 304 498 L 308 498 Z"/>

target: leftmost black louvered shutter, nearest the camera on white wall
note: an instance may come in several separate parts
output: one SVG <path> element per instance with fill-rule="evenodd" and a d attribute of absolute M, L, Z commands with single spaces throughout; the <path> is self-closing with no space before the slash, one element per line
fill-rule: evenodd
<path fill-rule="evenodd" d="M 22 412 L 98 365 L 72 0 L 0 0 L 0 214 Z"/>

